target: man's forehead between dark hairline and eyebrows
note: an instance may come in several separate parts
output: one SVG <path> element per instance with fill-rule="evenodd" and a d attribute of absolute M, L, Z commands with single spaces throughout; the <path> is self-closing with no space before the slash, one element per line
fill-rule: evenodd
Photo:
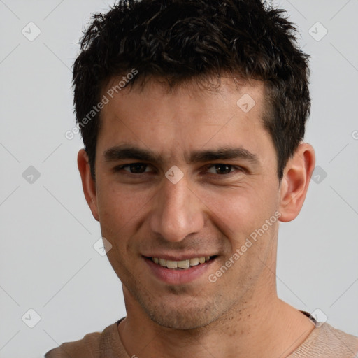
<path fill-rule="evenodd" d="M 102 95 L 108 96 L 120 80 L 113 78 Z M 101 152 L 123 144 L 150 148 L 164 157 L 178 157 L 180 151 L 185 156 L 204 147 L 241 146 L 257 152 L 267 134 L 261 81 L 221 78 L 219 86 L 208 90 L 194 82 L 170 89 L 151 80 L 143 87 L 117 90 L 108 100 L 101 110 Z"/>

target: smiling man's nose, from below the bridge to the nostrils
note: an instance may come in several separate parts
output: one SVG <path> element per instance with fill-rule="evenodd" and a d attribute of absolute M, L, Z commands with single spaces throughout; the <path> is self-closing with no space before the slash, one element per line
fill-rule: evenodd
<path fill-rule="evenodd" d="M 182 241 L 203 228 L 203 203 L 189 189 L 185 176 L 176 184 L 164 177 L 153 200 L 150 229 L 166 241 Z"/>

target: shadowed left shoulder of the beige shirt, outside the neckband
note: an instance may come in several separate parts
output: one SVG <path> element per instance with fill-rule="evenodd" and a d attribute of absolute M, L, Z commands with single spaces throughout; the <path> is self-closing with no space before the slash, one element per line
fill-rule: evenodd
<path fill-rule="evenodd" d="M 110 324 L 102 332 L 89 333 L 78 341 L 62 343 L 45 353 L 45 358 L 99 358 L 107 345 L 119 339 L 118 322 Z"/>

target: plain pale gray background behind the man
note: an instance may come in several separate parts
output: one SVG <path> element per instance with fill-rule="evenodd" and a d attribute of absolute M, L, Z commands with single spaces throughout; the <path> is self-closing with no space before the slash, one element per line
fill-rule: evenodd
<path fill-rule="evenodd" d="M 278 294 L 358 336 L 358 1 L 275 3 L 312 56 L 306 141 L 322 168 L 299 217 L 280 225 Z M 75 123 L 78 39 L 109 5 L 0 0 L 0 357 L 41 357 L 125 315 L 120 281 L 93 248 L 101 234 L 80 185 L 80 136 L 64 136 Z M 29 22 L 41 30 L 34 41 L 22 34 L 36 34 Z M 33 328 L 29 309 L 41 317 Z"/>

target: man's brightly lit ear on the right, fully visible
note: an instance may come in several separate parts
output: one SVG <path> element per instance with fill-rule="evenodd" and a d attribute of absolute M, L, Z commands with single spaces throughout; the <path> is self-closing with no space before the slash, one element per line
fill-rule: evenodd
<path fill-rule="evenodd" d="M 294 220 L 306 199 L 308 185 L 315 169 L 315 150 L 308 143 L 301 143 L 289 159 L 280 185 L 280 221 Z"/>

